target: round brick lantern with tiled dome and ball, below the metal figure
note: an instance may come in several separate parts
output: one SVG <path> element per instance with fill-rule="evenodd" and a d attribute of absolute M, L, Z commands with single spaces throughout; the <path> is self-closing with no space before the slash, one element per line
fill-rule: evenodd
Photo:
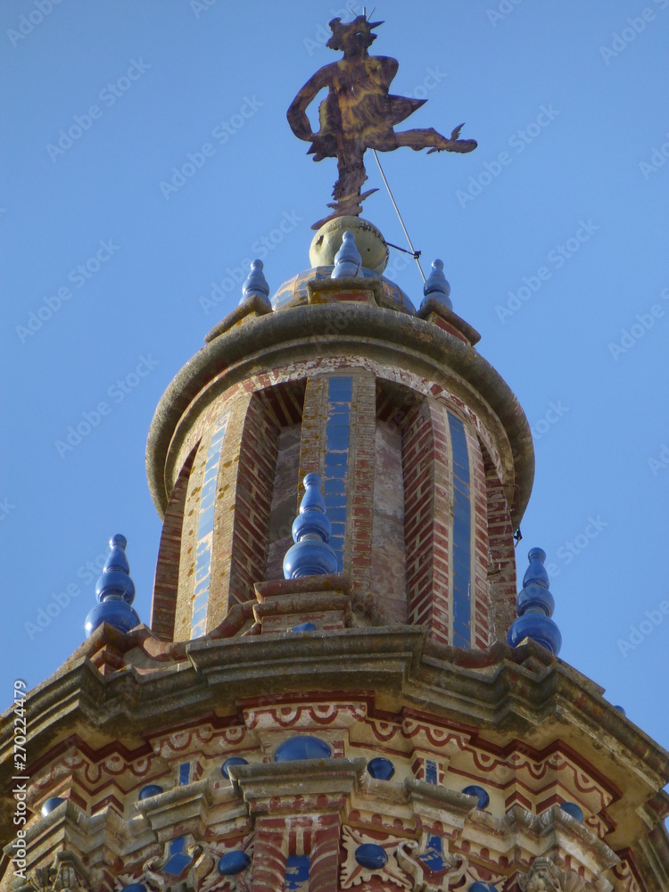
<path fill-rule="evenodd" d="M 425 627 L 460 648 L 506 638 L 529 426 L 452 310 L 441 261 L 415 307 L 383 276 L 386 257 L 376 227 L 340 217 L 272 304 L 258 263 L 163 397 L 147 450 L 163 640 L 211 632 L 256 582 L 283 577 L 310 473 L 352 625 Z"/>

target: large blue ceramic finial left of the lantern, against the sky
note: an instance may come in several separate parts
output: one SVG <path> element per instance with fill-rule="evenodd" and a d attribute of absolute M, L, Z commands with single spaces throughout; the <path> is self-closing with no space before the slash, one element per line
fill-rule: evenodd
<path fill-rule="evenodd" d="M 126 537 L 120 533 L 109 541 L 110 552 L 104 562 L 103 574 L 95 586 L 95 595 L 100 603 L 86 617 L 87 637 L 103 623 L 109 623 L 120 632 L 129 632 L 140 623 L 139 616 L 130 607 L 135 600 L 135 583 L 129 575 L 127 545 Z"/>

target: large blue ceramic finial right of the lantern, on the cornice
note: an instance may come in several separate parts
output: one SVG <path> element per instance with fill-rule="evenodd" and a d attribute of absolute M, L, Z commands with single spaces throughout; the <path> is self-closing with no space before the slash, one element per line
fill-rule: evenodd
<path fill-rule="evenodd" d="M 522 640 L 531 638 L 557 657 L 562 647 L 562 635 L 550 619 L 555 600 L 549 592 L 549 574 L 543 566 L 546 552 L 532 549 L 527 557 L 530 566 L 525 571 L 523 590 L 516 601 L 518 618 L 511 624 L 507 640 L 512 648 L 517 648 Z"/>

